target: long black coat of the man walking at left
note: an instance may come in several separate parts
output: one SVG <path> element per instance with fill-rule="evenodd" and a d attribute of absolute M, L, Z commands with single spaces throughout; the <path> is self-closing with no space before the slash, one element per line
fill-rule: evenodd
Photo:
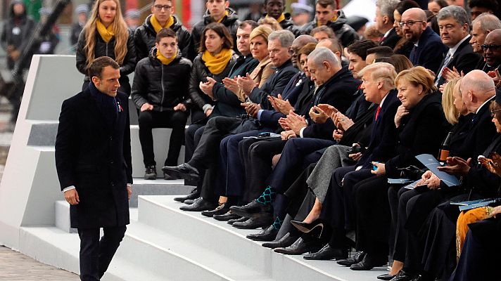
<path fill-rule="evenodd" d="M 89 89 L 68 98 L 61 106 L 56 169 L 61 190 L 75 185 L 80 197 L 80 203 L 70 207 L 72 228 L 129 223 L 129 109 L 125 93 L 118 93 L 116 99 L 123 110 L 116 113 L 111 126 Z"/>

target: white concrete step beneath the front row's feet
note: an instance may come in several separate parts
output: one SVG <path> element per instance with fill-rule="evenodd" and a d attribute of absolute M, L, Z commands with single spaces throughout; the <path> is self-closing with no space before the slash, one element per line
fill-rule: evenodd
<path fill-rule="evenodd" d="M 307 261 L 303 256 L 277 254 L 245 236 L 259 230 L 239 230 L 225 222 L 202 216 L 199 212 L 180 211 L 182 203 L 172 196 L 140 196 L 138 222 L 168 233 L 245 265 L 250 270 L 277 281 L 295 280 L 375 280 L 386 268 L 358 272 L 338 266 L 334 261 Z M 174 247 L 174 246 L 172 246 Z M 180 251 L 180 250 L 178 250 Z M 213 265 L 215 266 L 215 265 Z"/>

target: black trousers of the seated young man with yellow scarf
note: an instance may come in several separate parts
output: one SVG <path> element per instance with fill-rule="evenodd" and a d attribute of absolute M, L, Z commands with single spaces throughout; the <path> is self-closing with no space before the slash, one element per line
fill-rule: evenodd
<path fill-rule="evenodd" d="M 176 166 L 179 151 L 183 145 L 184 126 L 188 114 L 182 111 L 153 111 L 148 110 L 139 113 L 139 142 L 143 152 L 144 166 L 154 166 L 155 155 L 153 154 L 153 128 L 172 128 L 169 141 L 169 152 L 165 159 L 165 166 Z"/>

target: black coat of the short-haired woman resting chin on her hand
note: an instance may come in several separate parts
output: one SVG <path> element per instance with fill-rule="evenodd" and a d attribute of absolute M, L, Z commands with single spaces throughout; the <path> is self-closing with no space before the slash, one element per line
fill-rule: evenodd
<path fill-rule="evenodd" d="M 420 154 L 436 155 L 450 125 L 443 115 L 439 93 L 430 93 L 402 117 L 398 127 L 397 156 L 386 162 L 388 178 L 400 177 L 398 169 L 422 166 L 415 158 Z"/>

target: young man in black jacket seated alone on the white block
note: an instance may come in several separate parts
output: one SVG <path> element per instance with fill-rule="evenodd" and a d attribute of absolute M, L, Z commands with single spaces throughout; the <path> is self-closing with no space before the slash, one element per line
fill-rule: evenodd
<path fill-rule="evenodd" d="M 186 97 L 191 62 L 178 52 L 177 36 L 171 29 L 160 30 L 155 48 L 137 63 L 132 100 L 140 109 L 139 141 L 143 151 L 145 179 L 156 179 L 153 155 L 153 128 L 172 128 L 165 165 L 176 165 L 188 118 Z M 165 179 L 170 179 L 164 175 Z"/>

